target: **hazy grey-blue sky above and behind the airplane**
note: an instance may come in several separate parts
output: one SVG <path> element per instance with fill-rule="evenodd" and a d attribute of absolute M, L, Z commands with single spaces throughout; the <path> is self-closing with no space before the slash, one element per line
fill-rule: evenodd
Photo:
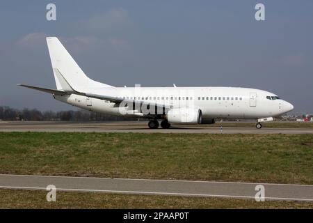
<path fill-rule="evenodd" d="M 265 21 L 255 20 L 256 3 Z M 73 109 L 16 86 L 55 87 L 45 37 L 57 36 L 106 84 L 252 87 L 312 114 L 312 12 L 309 0 L 1 1 L 0 105 Z"/>

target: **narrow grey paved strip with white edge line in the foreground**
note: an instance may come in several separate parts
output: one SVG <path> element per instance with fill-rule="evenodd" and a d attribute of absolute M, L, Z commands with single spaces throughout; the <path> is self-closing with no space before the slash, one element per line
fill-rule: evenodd
<path fill-rule="evenodd" d="M 313 185 L 0 175 L 0 188 L 46 190 L 47 185 L 55 185 L 57 192 L 104 192 L 234 199 L 255 199 L 255 194 L 258 192 L 255 187 L 263 185 L 265 200 L 313 201 Z"/>

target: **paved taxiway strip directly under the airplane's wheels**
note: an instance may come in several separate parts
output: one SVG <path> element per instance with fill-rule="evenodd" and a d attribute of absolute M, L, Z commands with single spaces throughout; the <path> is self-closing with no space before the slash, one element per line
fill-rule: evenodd
<path fill-rule="evenodd" d="M 220 124 L 223 126 L 223 124 Z M 147 128 L 145 121 L 118 122 L 53 122 L 53 121 L 10 121 L 0 122 L 0 132 L 142 132 L 142 133 L 210 133 L 210 134 L 313 134 L 313 128 L 262 128 L 223 127 L 211 125 L 173 125 L 170 129 Z"/>

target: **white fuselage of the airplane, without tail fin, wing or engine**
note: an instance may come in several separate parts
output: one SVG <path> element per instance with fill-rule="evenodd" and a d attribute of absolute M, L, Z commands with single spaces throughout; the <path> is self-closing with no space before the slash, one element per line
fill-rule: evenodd
<path fill-rule="evenodd" d="M 289 102 L 276 99 L 278 97 L 273 93 L 236 87 L 115 87 L 93 89 L 93 93 L 112 95 L 125 100 L 141 100 L 172 108 L 193 107 L 202 111 L 203 118 L 266 118 L 280 116 L 293 109 Z M 121 113 L 120 107 L 108 100 L 75 94 L 55 98 L 94 112 L 125 115 Z"/>

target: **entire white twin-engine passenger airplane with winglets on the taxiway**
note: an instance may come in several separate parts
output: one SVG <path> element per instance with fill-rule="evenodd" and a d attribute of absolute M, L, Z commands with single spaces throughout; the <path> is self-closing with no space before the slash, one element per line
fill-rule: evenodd
<path fill-rule="evenodd" d="M 290 112 L 294 106 L 277 95 L 235 87 L 113 87 L 85 75 L 56 37 L 48 37 L 56 90 L 19 84 L 51 93 L 54 99 L 113 116 L 147 118 L 149 128 L 175 124 L 211 124 L 216 118 L 264 121 Z"/>

